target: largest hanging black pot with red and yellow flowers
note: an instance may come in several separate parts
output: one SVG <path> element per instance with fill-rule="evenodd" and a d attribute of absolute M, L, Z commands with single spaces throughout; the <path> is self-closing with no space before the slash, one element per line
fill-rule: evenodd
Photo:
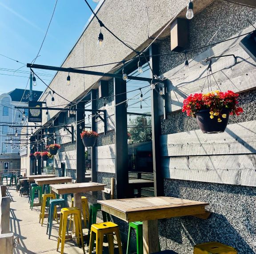
<path fill-rule="evenodd" d="M 229 115 L 238 116 L 243 112 L 238 106 L 238 96 L 232 91 L 218 90 L 208 94 L 190 94 L 183 102 L 182 112 L 196 117 L 203 133 L 221 133 L 228 125 Z"/>

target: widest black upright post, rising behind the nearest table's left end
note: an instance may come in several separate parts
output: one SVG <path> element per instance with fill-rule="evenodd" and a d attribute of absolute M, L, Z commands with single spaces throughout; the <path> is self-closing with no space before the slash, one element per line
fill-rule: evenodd
<path fill-rule="evenodd" d="M 114 104 L 124 102 L 126 97 L 126 81 L 114 78 Z M 128 145 L 127 145 L 127 109 L 126 103 L 115 107 L 116 134 L 116 196 L 118 199 L 128 195 Z"/>

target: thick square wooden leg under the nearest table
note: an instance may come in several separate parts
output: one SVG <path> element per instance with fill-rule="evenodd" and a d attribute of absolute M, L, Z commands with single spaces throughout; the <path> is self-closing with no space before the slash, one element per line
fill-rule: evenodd
<path fill-rule="evenodd" d="M 158 220 L 143 221 L 143 253 L 150 254 L 159 251 Z"/>

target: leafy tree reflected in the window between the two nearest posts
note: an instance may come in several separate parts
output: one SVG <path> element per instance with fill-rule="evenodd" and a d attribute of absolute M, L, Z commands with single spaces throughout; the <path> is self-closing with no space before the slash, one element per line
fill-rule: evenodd
<path fill-rule="evenodd" d="M 129 128 L 128 132 L 135 143 L 152 140 L 151 117 L 137 116 L 129 125 L 134 126 Z"/>

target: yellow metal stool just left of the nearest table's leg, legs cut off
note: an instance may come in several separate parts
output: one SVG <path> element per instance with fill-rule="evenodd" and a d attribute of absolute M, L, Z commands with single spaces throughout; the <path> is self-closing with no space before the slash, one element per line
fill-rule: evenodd
<path fill-rule="evenodd" d="M 89 254 L 92 254 L 95 238 L 96 238 L 96 254 L 102 254 L 104 234 L 107 234 L 108 236 L 109 254 L 114 254 L 114 234 L 116 234 L 119 254 L 122 254 L 123 252 L 122 252 L 119 226 L 112 222 L 92 224 Z"/>

